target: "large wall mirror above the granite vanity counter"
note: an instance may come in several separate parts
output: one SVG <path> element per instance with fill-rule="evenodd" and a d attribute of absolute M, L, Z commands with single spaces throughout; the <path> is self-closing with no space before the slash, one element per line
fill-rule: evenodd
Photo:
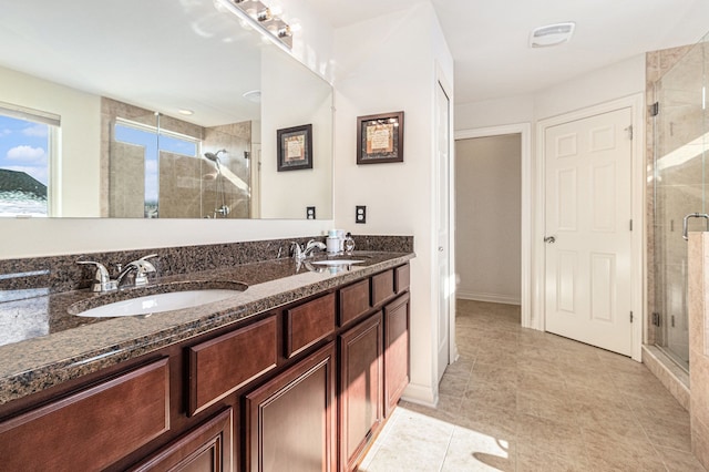
<path fill-rule="evenodd" d="M 331 218 L 330 84 L 213 0 L 10 2 L 0 44 L 0 214 Z"/>

